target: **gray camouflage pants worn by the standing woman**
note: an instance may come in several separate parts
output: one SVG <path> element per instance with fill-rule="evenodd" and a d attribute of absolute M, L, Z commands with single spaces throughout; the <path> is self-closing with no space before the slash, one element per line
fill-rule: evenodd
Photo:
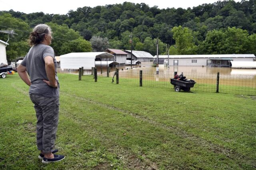
<path fill-rule="evenodd" d="M 56 139 L 59 116 L 59 97 L 30 94 L 36 110 L 36 143 L 38 150 L 52 152 Z"/>

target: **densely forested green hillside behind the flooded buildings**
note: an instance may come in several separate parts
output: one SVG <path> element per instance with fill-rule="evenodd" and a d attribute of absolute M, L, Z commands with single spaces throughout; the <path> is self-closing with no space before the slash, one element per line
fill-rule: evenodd
<path fill-rule="evenodd" d="M 0 30 L 14 29 L 19 34 L 8 42 L 8 61 L 26 54 L 29 32 L 40 23 L 52 27 L 56 55 L 107 47 L 130 49 L 130 38 L 134 50 L 152 55 L 156 55 L 157 38 L 162 54 L 167 44 L 170 54 L 256 54 L 256 0 L 218 1 L 192 9 L 124 2 L 85 6 L 66 15 L 0 11 Z M 7 39 L 0 33 L 0 40 Z"/>

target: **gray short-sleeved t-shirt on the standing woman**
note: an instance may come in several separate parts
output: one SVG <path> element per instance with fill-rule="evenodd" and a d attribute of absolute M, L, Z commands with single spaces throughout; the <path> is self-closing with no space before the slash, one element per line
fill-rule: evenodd
<path fill-rule="evenodd" d="M 54 57 L 52 47 L 44 44 L 37 44 L 30 48 L 26 57 L 20 63 L 26 67 L 26 71 L 30 76 L 31 85 L 29 94 L 42 95 L 46 97 L 59 97 L 59 83 L 58 88 L 48 86 L 43 80 L 47 80 L 44 57 L 51 56 L 54 59 L 55 65 L 55 79 L 58 82 L 57 76 L 57 61 Z"/>

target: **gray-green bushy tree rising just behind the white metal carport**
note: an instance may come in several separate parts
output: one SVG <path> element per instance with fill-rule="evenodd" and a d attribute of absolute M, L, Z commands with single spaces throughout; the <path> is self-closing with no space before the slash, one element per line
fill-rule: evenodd
<path fill-rule="evenodd" d="M 108 38 L 92 36 L 90 42 L 92 44 L 92 51 L 94 52 L 102 52 L 109 47 Z"/>

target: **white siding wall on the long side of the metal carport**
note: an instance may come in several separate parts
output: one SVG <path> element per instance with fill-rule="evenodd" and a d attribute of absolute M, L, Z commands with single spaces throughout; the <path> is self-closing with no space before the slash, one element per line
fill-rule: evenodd
<path fill-rule="evenodd" d="M 84 69 L 92 69 L 92 67 L 95 67 L 95 56 L 60 56 L 61 69 L 79 69 L 79 67 L 84 67 Z"/>

